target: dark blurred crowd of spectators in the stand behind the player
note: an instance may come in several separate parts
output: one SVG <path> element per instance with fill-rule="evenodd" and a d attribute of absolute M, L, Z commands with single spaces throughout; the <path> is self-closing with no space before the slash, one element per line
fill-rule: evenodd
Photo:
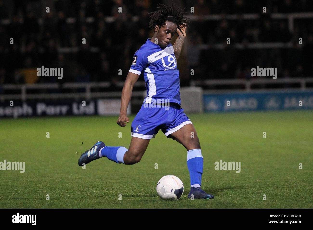
<path fill-rule="evenodd" d="M 191 79 L 251 78 L 251 68 L 257 65 L 278 68 L 278 74 L 284 77 L 312 74 L 313 18 L 295 19 L 290 32 L 288 18 L 273 19 L 270 15 L 313 12 L 313 1 L 175 2 L 186 6 L 188 15 L 198 16 L 190 23 L 182 54 L 187 68 L 180 69 L 183 85 Z M 124 80 L 134 53 L 153 35 L 148 13 L 156 10 L 157 3 L 171 1 L 0 0 L 0 84 Z M 264 6 L 267 13 L 262 12 Z M 192 7 L 194 13 L 190 12 Z M 259 17 L 245 19 L 245 13 Z M 204 18 L 213 14 L 220 18 Z M 238 17 L 228 19 L 228 14 Z M 85 44 L 82 38 L 86 39 Z M 227 38 L 231 44 L 226 44 Z M 299 44 L 299 38 L 303 44 Z M 271 49 L 247 46 L 275 42 L 292 45 Z M 236 48 L 236 43 L 242 47 Z M 224 46 L 216 48 L 216 44 Z M 41 66 L 62 67 L 63 79 L 38 78 L 29 71 Z M 189 74 L 190 69 L 195 69 L 195 75 Z"/>

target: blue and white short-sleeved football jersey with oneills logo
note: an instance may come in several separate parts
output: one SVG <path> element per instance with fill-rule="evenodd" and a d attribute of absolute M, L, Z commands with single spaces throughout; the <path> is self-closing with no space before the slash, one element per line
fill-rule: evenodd
<path fill-rule="evenodd" d="M 148 38 L 136 51 L 129 72 L 143 72 L 147 89 L 143 103 L 165 100 L 180 105 L 179 71 L 171 43 L 162 49 Z"/>

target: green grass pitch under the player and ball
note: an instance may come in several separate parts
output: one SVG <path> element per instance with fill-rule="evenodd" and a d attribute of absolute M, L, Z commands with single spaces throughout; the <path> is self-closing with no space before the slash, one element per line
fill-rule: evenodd
<path fill-rule="evenodd" d="M 80 155 L 96 140 L 128 148 L 134 116 L 124 128 L 115 123 L 117 117 L 47 117 L 0 120 L 0 161 L 25 161 L 24 173 L 0 171 L 0 207 L 313 207 L 312 111 L 187 115 L 204 156 L 202 187 L 215 196 L 213 200 L 187 199 L 187 152 L 162 131 L 138 164 L 116 164 L 103 157 L 86 169 L 78 166 L 76 151 Z M 220 160 L 240 161 L 241 172 L 214 170 L 214 162 Z M 156 193 L 157 181 L 171 174 L 185 185 L 178 201 L 161 200 Z"/>

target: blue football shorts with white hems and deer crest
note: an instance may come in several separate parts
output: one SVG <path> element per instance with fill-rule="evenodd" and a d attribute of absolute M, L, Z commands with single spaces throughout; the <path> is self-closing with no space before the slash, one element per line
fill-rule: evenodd
<path fill-rule="evenodd" d="M 170 134 L 184 125 L 192 124 L 183 111 L 181 107 L 173 105 L 151 107 L 151 105 L 145 105 L 144 103 L 131 123 L 131 136 L 151 139 L 161 129 L 169 138 Z"/>

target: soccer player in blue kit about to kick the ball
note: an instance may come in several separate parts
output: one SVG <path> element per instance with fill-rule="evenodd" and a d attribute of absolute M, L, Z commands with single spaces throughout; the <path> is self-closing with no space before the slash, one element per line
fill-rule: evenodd
<path fill-rule="evenodd" d="M 174 4 L 172 7 L 158 4 L 157 10 L 149 13 L 149 27 L 155 33 L 134 55 L 122 90 L 120 117 L 116 122 L 121 127 L 129 122 L 126 111 L 132 89 L 143 72 L 147 96 L 131 123 L 132 138 L 129 148 L 105 146 L 102 141 L 98 141 L 80 156 L 78 164 L 82 166 L 100 157 L 126 165 L 136 164 L 141 160 L 151 138 L 162 130 L 167 138 L 178 141 L 187 149 L 191 182 L 188 198 L 193 195 L 195 199 L 212 199 L 213 195 L 201 189 L 203 156 L 197 132 L 180 107 L 177 59 L 187 28 L 187 18 L 183 11 L 184 9 L 175 8 Z M 172 45 L 170 42 L 176 33 L 178 38 Z"/>

